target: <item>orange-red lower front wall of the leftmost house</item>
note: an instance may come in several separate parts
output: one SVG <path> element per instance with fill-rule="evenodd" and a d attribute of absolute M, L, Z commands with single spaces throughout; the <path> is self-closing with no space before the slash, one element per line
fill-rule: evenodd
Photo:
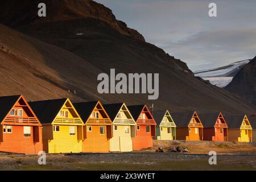
<path fill-rule="evenodd" d="M 31 137 L 24 137 L 23 126 L 13 126 L 13 133 L 3 133 L 3 142 L 0 142 L 0 151 L 16 152 L 22 154 L 38 154 L 43 150 L 42 137 L 40 142 L 34 144 L 34 128 L 31 127 Z M 39 128 L 42 136 L 42 128 Z"/>

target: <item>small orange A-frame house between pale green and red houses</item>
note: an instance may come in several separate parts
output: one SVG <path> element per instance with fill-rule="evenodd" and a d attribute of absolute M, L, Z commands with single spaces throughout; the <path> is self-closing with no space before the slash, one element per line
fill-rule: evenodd
<path fill-rule="evenodd" d="M 203 125 L 196 111 L 172 113 L 176 124 L 176 140 L 203 140 Z"/>

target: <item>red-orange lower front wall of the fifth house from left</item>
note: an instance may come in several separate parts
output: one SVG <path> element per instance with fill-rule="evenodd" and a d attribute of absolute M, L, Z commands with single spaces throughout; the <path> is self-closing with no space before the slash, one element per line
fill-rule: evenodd
<path fill-rule="evenodd" d="M 153 147 L 153 139 L 150 133 L 146 133 L 146 125 L 140 125 L 140 130 L 137 130 L 136 137 L 133 138 L 133 150 L 141 150 L 142 148 Z"/>

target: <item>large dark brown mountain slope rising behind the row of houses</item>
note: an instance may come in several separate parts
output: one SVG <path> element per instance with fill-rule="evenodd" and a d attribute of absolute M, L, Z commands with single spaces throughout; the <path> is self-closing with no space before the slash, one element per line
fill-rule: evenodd
<path fill-rule="evenodd" d="M 34 15 L 37 14 L 37 5 L 34 2 L 37 1 L 10 0 L 2 2 L 0 6 L 0 10 L 3 10 L 0 22 L 29 35 L 20 34 L 19 38 L 22 38 L 18 39 L 12 35 L 17 33 L 10 28 L 7 30 L 9 34 L 2 34 L 2 31 L 6 31 L 2 28 L 2 46 L 11 49 L 15 55 L 26 57 L 26 65 L 34 68 L 26 69 L 28 75 L 24 75 L 24 80 L 27 83 L 13 83 L 15 89 L 6 88 L 0 90 L 0 94 L 22 92 L 21 85 L 26 84 L 26 96 L 29 100 L 61 97 L 68 90 L 76 90 L 76 94 L 68 93 L 73 100 L 127 102 L 127 105 L 154 103 L 155 110 L 196 109 L 230 113 L 256 111 L 253 105 L 240 97 L 193 77 L 185 63 L 169 56 L 162 49 L 138 39 L 133 34 L 121 32 L 117 27 L 118 20 L 112 19 L 111 22 L 111 18 L 108 18 L 113 18 L 111 11 L 98 3 L 85 0 L 40 1 L 47 3 L 49 12 L 48 18 L 42 19 Z M 92 17 L 92 12 L 98 12 L 97 16 Z M 105 20 L 97 17 L 105 17 Z M 13 44 L 9 44 L 10 40 Z M 10 62 L 10 57 L 2 59 Z M 10 63 L 18 64 L 18 61 Z M 109 73 L 110 68 L 115 68 L 117 73 L 159 73 L 159 99 L 149 101 L 147 94 L 98 94 L 97 75 L 102 72 Z M 6 71 L 9 76 L 13 73 L 14 71 Z M 33 80 L 36 73 L 44 81 L 39 82 L 40 85 L 47 89 L 51 84 L 49 90 L 53 93 L 48 94 L 40 87 L 30 85 L 38 82 Z M 16 74 L 23 76 L 23 73 Z M 5 84 L 6 82 L 1 83 Z"/>

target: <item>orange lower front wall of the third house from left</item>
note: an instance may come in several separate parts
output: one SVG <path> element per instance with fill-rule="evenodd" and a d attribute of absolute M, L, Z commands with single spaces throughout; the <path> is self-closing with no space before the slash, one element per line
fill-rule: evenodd
<path fill-rule="evenodd" d="M 86 138 L 82 142 L 82 152 L 110 151 L 107 126 L 105 126 L 105 134 L 100 134 L 100 126 L 92 126 L 92 131 L 86 131 L 86 126 L 84 126 L 84 131 L 86 132 Z"/>

